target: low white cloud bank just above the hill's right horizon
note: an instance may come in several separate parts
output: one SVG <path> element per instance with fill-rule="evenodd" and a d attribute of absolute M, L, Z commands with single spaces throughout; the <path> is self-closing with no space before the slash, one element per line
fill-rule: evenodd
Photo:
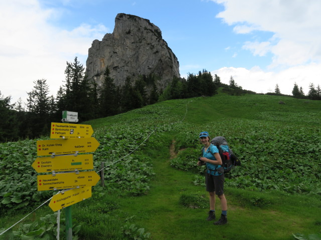
<path fill-rule="evenodd" d="M 294 82 L 308 93 L 308 86 L 312 82 L 317 86 L 321 75 L 321 64 L 312 63 L 309 65 L 293 66 L 279 72 L 263 71 L 258 66 L 246 69 L 244 67 L 222 67 L 211 72 L 217 74 L 223 83 L 229 84 L 233 76 L 235 82 L 243 89 L 252 90 L 257 93 L 274 92 L 278 84 L 281 93 L 292 94 Z"/>

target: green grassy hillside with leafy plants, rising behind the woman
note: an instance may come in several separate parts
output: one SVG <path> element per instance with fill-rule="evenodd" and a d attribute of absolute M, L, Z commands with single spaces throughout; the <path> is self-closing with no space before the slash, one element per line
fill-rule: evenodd
<path fill-rule="evenodd" d="M 98 183 L 91 198 L 73 205 L 79 239 L 293 239 L 297 232 L 308 239 L 321 229 L 320 109 L 321 101 L 219 94 L 86 122 L 100 142 L 95 170 L 102 161 L 107 167 L 105 187 Z M 224 226 L 205 220 L 209 198 L 196 166 L 203 130 L 225 136 L 242 161 L 226 179 Z M 52 192 L 37 192 L 36 174 L 26 173 L 33 171 L 35 141 L 0 150 L 1 233 Z M 0 239 L 23 235 L 46 214 L 47 204 Z"/>

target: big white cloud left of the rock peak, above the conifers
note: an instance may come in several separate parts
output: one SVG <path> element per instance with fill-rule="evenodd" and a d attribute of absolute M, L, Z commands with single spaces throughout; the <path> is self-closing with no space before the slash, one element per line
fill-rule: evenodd
<path fill-rule="evenodd" d="M 61 9 L 44 9 L 38 0 L 0 1 L 0 91 L 26 101 L 33 81 L 47 79 L 54 96 L 63 84 L 66 61 L 88 54 L 93 39 L 107 32 L 102 25 L 81 24 L 68 31 L 49 20 L 61 15 Z M 85 62 L 84 66 L 85 66 Z"/>

